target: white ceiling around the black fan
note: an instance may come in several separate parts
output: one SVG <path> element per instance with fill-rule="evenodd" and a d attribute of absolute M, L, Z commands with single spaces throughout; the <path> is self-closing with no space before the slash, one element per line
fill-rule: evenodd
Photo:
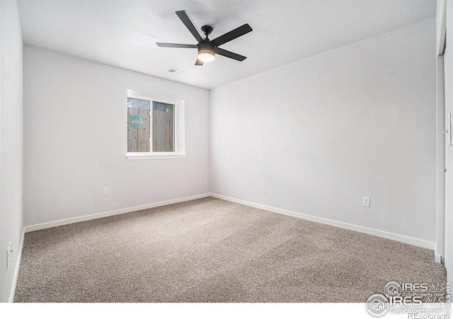
<path fill-rule="evenodd" d="M 80 1 L 19 0 L 28 45 L 212 89 L 268 69 L 435 16 L 436 1 Z M 211 39 L 248 23 L 253 32 L 221 47 L 248 57 L 217 56 L 195 66 L 196 44 L 175 11 L 188 11 Z M 171 67 L 185 71 L 168 72 Z"/>

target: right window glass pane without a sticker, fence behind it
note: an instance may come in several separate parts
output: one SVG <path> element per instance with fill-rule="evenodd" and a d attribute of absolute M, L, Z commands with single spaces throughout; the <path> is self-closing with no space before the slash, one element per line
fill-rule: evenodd
<path fill-rule="evenodd" d="M 153 152 L 174 152 L 173 104 L 153 102 Z"/>

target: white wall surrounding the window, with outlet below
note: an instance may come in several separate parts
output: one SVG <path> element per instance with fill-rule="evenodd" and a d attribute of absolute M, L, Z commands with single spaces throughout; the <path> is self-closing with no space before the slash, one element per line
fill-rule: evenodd
<path fill-rule="evenodd" d="M 185 159 L 126 159 L 128 89 L 185 100 Z M 25 225 L 209 191 L 205 89 L 25 45 L 24 112 Z"/>

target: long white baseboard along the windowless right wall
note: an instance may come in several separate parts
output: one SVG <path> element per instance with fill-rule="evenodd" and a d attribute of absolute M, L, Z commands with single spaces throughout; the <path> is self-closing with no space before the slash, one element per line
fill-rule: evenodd
<path fill-rule="evenodd" d="M 275 208 L 275 207 L 272 207 L 272 206 L 265 206 L 265 205 L 261 205 L 261 204 L 258 204 L 258 203 L 252 203 L 250 201 L 243 201 L 241 199 L 232 198 L 232 197 L 228 197 L 228 196 L 223 196 L 223 195 L 219 195 L 219 194 L 212 194 L 211 193 L 210 196 L 215 197 L 215 198 L 224 199 L 225 201 L 231 201 L 233 203 L 240 203 L 242 205 L 263 209 L 265 211 L 272 211 L 273 213 L 280 213 L 280 214 L 287 215 L 287 216 L 293 216 L 293 217 L 302 218 L 302 219 L 305 219 L 305 220 L 311 220 L 311 221 L 314 221 L 316 223 L 323 223 L 323 224 L 326 224 L 326 225 L 331 225 L 331 226 L 336 226 L 336 227 L 340 227 L 340 228 L 345 228 L 345 229 L 348 229 L 348 230 L 355 230 L 355 231 L 357 231 L 359 233 L 365 233 L 365 234 L 368 234 L 368 235 L 384 237 L 384 238 L 387 238 L 389 240 L 396 240 L 398 242 L 404 242 L 406 244 L 410 244 L 410 245 L 414 245 L 414 246 L 418 246 L 418 247 L 423 247 L 423 248 L 428 248 L 430 250 L 435 250 L 435 242 L 428 242 L 426 240 L 420 240 L 420 239 L 413 238 L 413 237 L 397 235 L 397 234 L 394 234 L 394 233 L 385 232 L 383 230 L 367 228 L 367 227 L 363 227 L 363 226 L 359 226 L 359 225 L 352 225 L 352 224 L 343 223 L 343 222 L 339 222 L 339 221 L 331 220 L 331 219 L 327 219 L 327 218 L 310 216 L 310 215 L 306 215 L 306 214 L 303 214 L 303 213 L 296 213 L 294 211 L 287 211 L 285 209 Z"/>

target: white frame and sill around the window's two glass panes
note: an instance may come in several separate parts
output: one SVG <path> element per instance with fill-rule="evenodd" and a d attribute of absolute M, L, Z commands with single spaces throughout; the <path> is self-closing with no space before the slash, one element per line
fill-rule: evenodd
<path fill-rule="evenodd" d="M 151 152 L 127 152 L 127 143 L 126 143 L 126 157 L 127 159 L 168 159 L 168 158 L 185 158 L 185 137 L 184 137 L 184 100 L 171 99 L 165 96 L 156 96 L 152 94 L 143 94 L 137 91 L 127 90 L 127 98 L 130 99 L 140 99 L 149 101 L 149 148 Z M 173 104 L 174 110 L 173 114 L 175 116 L 173 123 L 173 145 L 174 152 L 153 152 L 153 102 L 161 102 L 167 104 Z M 127 103 L 126 103 L 126 114 L 127 114 Z M 127 133 L 127 127 L 126 127 Z"/>

